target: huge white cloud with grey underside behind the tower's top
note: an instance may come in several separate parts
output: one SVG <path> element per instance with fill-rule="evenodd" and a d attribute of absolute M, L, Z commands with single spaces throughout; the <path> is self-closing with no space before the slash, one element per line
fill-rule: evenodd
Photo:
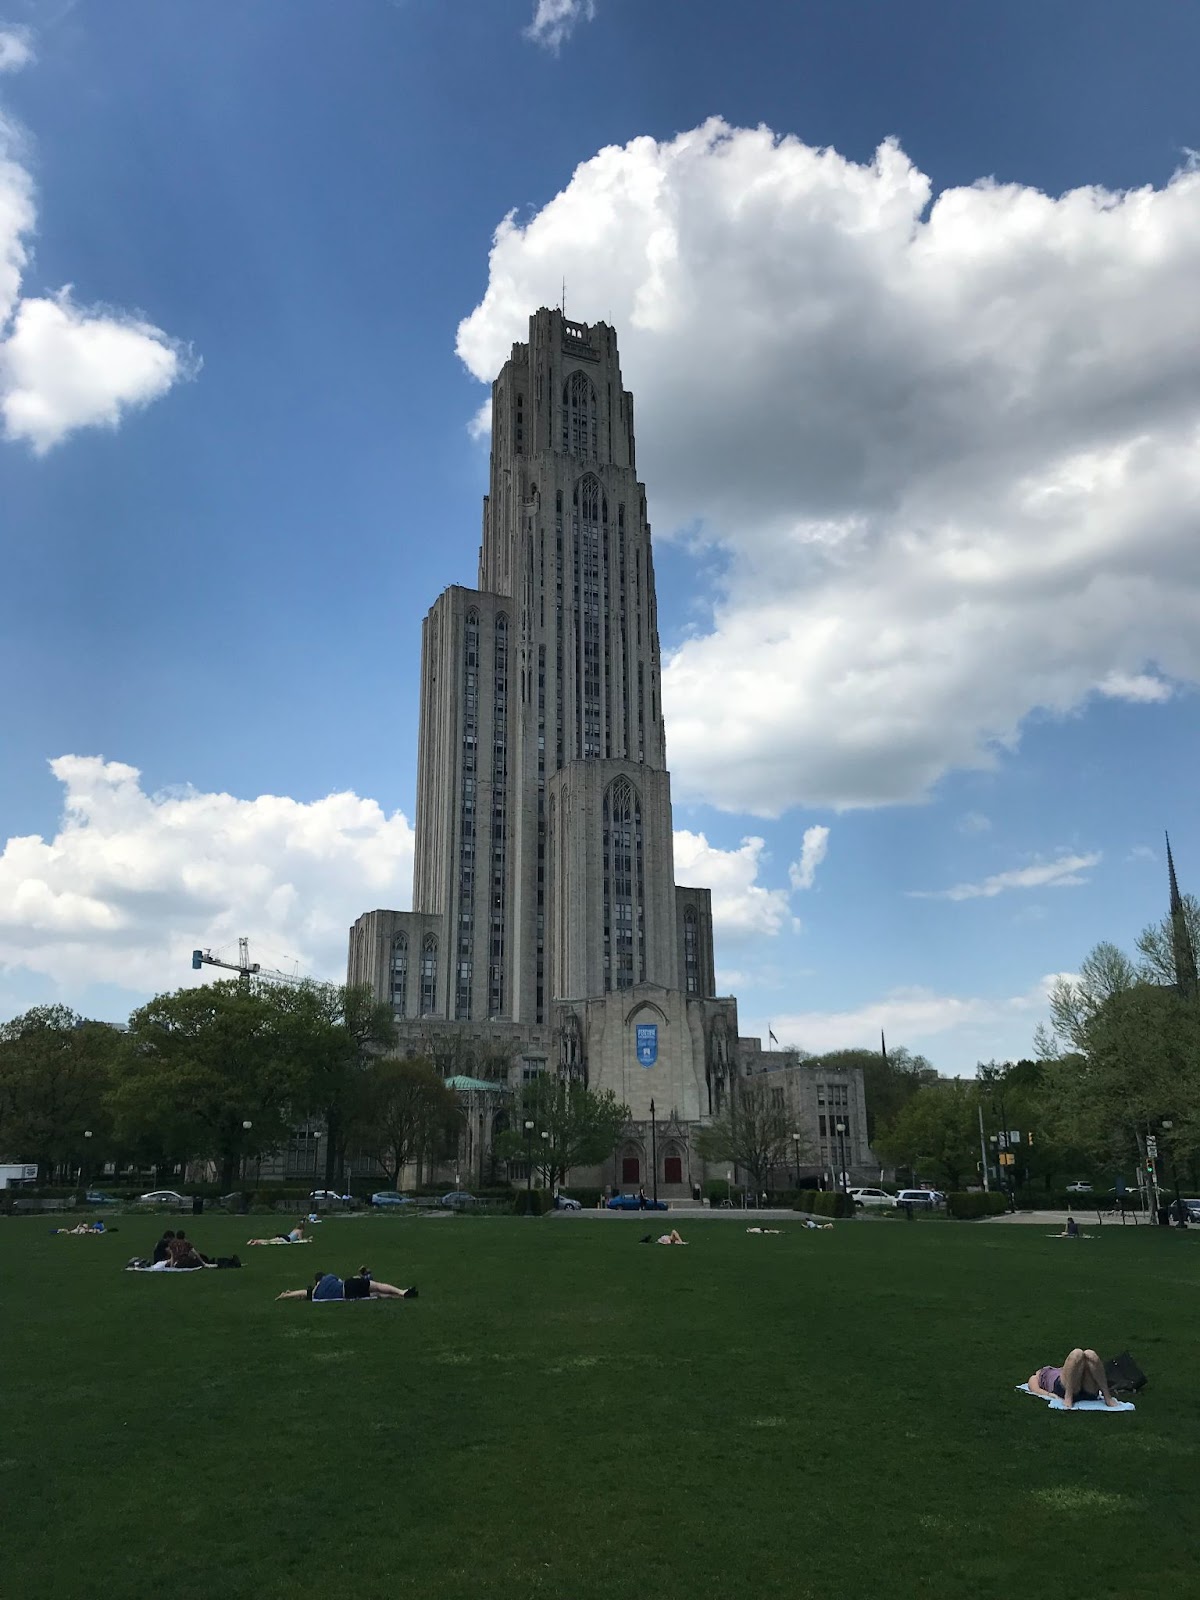
<path fill-rule="evenodd" d="M 610 315 L 662 531 L 725 552 L 664 669 L 677 792 L 918 800 L 1035 709 L 1200 680 L 1200 171 L 934 197 L 710 120 L 510 213 L 458 349 Z"/>

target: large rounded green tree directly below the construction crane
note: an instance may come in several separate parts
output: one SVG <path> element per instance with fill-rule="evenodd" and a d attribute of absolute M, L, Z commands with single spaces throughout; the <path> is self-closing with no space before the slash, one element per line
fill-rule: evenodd
<path fill-rule="evenodd" d="M 211 1158 L 224 1187 L 242 1160 L 278 1149 L 307 1088 L 280 998 L 232 981 L 134 1011 L 109 1098 L 118 1134 L 170 1160 Z"/>

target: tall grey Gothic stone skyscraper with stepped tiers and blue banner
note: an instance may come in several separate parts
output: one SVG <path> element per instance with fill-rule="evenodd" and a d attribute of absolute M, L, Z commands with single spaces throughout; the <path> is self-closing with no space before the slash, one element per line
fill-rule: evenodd
<path fill-rule="evenodd" d="M 635 1115 L 651 1094 L 710 1114 L 714 1070 L 725 1091 L 736 1003 L 714 998 L 709 891 L 675 885 L 646 493 L 605 323 L 538 310 L 493 384 L 478 587 L 422 632 L 413 910 L 358 918 L 349 976 L 402 1021 L 549 1043 Z"/>

